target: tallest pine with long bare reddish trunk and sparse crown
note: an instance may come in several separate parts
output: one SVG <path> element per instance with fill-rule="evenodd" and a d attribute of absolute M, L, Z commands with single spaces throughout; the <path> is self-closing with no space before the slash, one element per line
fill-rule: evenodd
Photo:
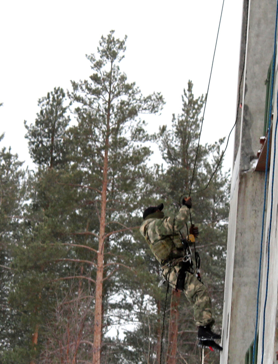
<path fill-rule="evenodd" d="M 90 171 L 88 183 L 96 192 L 93 203 L 99 214 L 98 229 L 94 233 L 98 240 L 94 364 L 100 363 L 102 347 L 103 282 L 114 272 L 108 267 L 117 265 L 113 258 L 105 262 L 104 252 L 106 247 L 113 247 L 115 240 L 118 244 L 126 239 L 123 232 L 132 226 L 129 225 L 131 212 L 138 206 L 140 197 L 143 161 L 150 155 L 147 147 L 139 145 L 148 138 L 144 123 L 135 119 L 143 112 L 158 112 L 163 104 L 160 94 L 143 97 L 135 83 L 127 83 L 126 75 L 120 72 L 125 40 L 115 39 L 114 31 L 102 37 L 99 59 L 93 54 L 87 56 L 94 72 L 90 82 L 72 82 L 72 101 L 81 106 L 75 110 L 78 127 L 71 133 L 78 141 L 80 166 Z"/>

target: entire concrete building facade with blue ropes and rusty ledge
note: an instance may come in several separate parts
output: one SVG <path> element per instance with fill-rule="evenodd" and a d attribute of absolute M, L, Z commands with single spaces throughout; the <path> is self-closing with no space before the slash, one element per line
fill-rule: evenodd
<path fill-rule="evenodd" d="M 221 364 L 278 363 L 276 12 L 243 0 Z"/>

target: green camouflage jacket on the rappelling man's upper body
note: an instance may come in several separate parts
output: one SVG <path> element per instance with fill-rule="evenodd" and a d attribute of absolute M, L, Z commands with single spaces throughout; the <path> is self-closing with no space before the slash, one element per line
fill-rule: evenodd
<path fill-rule="evenodd" d="M 182 206 L 175 218 L 162 219 L 146 217 L 140 226 L 140 233 L 146 239 L 152 253 L 159 263 L 183 256 L 179 230 L 186 224 L 187 207 Z"/>

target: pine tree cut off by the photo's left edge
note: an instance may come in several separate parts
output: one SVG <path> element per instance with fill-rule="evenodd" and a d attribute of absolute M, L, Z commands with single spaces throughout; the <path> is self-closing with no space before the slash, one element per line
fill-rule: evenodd
<path fill-rule="evenodd" d="M 0 136 L 0 141 L 4 134 Z M 23 162 L 16 154 L 3 147 L 0 151 L 0 352 L 17 344 L 18 313 L 9 308 L 8 294 L 11 289 L 13 270 L 10 267 L 12 246 L 16 240 L 21 219 L 20 202 L 24 195 Z M 23 333 L 21 332 L 21 335 Z"/>

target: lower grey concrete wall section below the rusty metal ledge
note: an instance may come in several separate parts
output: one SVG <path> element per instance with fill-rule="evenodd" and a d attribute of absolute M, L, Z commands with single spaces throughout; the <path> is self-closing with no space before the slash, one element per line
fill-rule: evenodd
<path fill-rule="evenodd" d="M 231 199 L 221 363 L 244 363 L 254 338 L 263 183 L 263 173 L 240 173 Z"/>

